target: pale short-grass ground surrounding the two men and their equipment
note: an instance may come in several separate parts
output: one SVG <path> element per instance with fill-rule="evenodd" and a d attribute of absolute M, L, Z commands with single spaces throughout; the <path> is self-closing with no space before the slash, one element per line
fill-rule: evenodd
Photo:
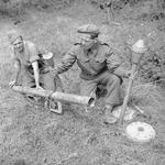
<path fill-rule="evenodd" d="M 100 40 L 127 59 L 125 45 L 140 37 L 145 36 L 153 51 L 165 45 L 164 19 L 141 18 L 140 12 L 143 11 L 144 7 L 125 9 L 116 14 L 118 24 L 108 24 L 105 12 L 87 3 L 75 3 L 64 10 L 29 9 L 24 15 L 0 16 L 0 165 L 165 165 L 163 88 L 140 78 L 134 84 L 133 102 L 147 114 L 134 120 L 147 122 L 156 131 L 153 141 L 140 144 L 124 135 L 127 122 L 122 131 L 116 124 L 102 124 L 101 107 L 86 112 L 82 107 L 66 105 L 64 114 L 57 116 L 29 105 L 8 87 L 13 74 L 7 40 L 9 30 L 20 30 L 40 48 L 54 52 L 55 61 L 58 61 L 79 41 L 76 29 L 85 23 L 95 23 L 101 30 Z M 125 67 L 129 67 L 128 63 Z M 77 66 L 62 75 L 62 80 L 67 92 L 78 94 Z M 124 79 L 123 89 L 127 82 Z"/>

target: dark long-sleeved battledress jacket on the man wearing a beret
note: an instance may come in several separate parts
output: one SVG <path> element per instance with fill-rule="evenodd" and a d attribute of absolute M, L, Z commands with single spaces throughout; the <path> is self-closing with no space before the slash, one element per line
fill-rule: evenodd
<path fill-rule="evenodd" d="M 119 77 L 125 76 L 121 62 L 108 44 L 98 43 L 97 50 L 86 52 L 80 43 L 75 44 L 55 66 L 55 72 L 62 74 L 68 70 L 74 63 L 81 69 L 80 78 L 92 80 L 100 74 L 109 70 Z"/>

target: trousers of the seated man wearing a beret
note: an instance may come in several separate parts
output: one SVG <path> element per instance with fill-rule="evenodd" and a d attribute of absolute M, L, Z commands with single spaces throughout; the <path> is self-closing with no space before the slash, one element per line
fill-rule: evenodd
<path fill-rule="evenodd" d="M 82 79 L 80 85 L 80 95 L 96 97 L 96 89 L 98 85 L 107 86 L 107 96 L 105 98 L 106 105 L 118 106 L 121 103 L 121 79 L 109 72 L 102 73 L 92 80 Z"/>

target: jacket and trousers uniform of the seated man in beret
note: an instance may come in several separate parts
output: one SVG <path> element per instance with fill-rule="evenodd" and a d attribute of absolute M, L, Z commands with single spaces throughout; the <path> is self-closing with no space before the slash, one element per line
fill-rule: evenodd
<path fill-rule="evenodd" d="M 107 85 L 106 103 L 112 106 L 120 103 L 121 77 L 125 76 L 125 72 L 120 67 L 121 63 L 112 48 L 98 42 L 97 50 L 85 51 L 80 43 L 75 44 L 56 65 L 54 72 L 62 74 L 75 62 L 81 69 L 80 94 L 82 96 L 95 96 L 98 85 Z"/>

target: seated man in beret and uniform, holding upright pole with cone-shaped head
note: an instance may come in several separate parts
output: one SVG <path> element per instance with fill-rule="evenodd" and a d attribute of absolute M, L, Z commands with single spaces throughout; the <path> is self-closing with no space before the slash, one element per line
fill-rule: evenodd
<path fill-rule="evenodd" d="M 111 111 L 114 106 L 121 105 L 121 78 L 129 77 L 130 72 L 121 67 L 121 63 L 112 48 L 98 40 L 100 31 L 96 25 L 82 25 L 78 29 L 78 33 L 86 35 L 80 43 L 75 44 L 66 53 L 62 63 L 56 65 L 51 72 L 54 75 L 62 74 L 77 62 L 81 69 L 81 96 L 94 96 L 96 95 L 97 86 L 106 85 L 108 92 L 105 98 L 105 122 L 114 123 L 117 119 Z"/>

